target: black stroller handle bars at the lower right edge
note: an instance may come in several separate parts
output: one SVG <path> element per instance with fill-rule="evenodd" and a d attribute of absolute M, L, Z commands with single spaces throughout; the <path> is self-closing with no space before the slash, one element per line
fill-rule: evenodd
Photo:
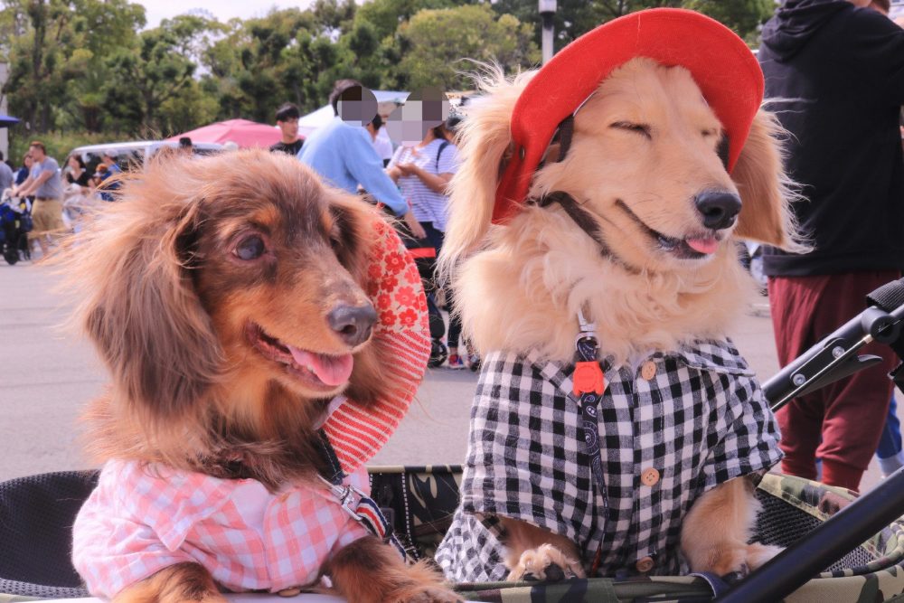
<path fill-rule="evenodd" d="M 813 391 L 870 366 L 876 356 L 854 354 L 871 341 L 888 344 L 904 361 L 904 278 L 879 287 L 867 296 L 871 304 L 794 363 L 764 383 L 773 410 L 795 396 Z M 890 377 L 904 391 L 904 363 Z M 882 527 L 904 514 L 904 468 L 886 478 L 852 504 L 740 581 L 720 603 L 773 603 L 799 589 L 820 571 L 860 546 Z"/>

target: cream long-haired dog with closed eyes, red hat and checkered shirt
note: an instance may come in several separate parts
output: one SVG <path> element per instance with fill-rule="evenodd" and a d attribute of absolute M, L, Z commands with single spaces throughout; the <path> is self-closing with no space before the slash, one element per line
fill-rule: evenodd
<path fill-rule="evenodd" d="M 713 40 L 737 72 L 701 60 Z M 439 259 L 484 360 L 462 504 L 436 556 L 449 579 L 721 575 L 777 552 L 750 542 L 777 427 L 725 335 L 752 291 L 736 241 L 805 250 L 758 81 L 737 36 L 673 9 L 486 78 Z"/>

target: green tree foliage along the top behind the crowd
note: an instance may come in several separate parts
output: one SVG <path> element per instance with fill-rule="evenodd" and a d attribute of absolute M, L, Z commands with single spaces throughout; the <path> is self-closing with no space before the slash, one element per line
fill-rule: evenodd
<path fill-rule="evenodd" d="M 49 131 L 171 136 L 216 119 L 271 122 L 283 102 L 325 104 L 333 81 L 465 89 L 463 72 L 540 61 L 536 0 L 315 0 L 221 23 L 194 11 L 146 29 L 129 0 L 0 0 L 2 90 L 32 137 Z M 654 6 L 710 14 L 748 42 L 773 0 L 559 0 L 555 45 Z"/>

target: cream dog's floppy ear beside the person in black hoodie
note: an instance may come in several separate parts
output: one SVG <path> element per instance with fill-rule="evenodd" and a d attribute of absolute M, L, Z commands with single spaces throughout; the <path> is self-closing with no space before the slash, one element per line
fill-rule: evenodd
<path fill-rule="evenodd" d="M 782 167 L 782 131 L 775 116 L 758 111 L 731 172 L 742 202 L 735 235 L 785 250 L 802 250 L 788 208 L 795 193 Z"/>

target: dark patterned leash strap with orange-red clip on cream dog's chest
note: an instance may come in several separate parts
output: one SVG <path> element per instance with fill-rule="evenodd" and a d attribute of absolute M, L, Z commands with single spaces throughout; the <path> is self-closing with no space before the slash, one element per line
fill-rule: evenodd
<path fill-rule="evenodd" d="M 590 475 L 594 488 L 603 499 L 604 518 L 608 517 L 609 498 L 606 488 L 606 476 L 603 474 L 603 459 L 599 447 L 599 400 L 606 391 L 606 377 L 599 363 L 599 343 L 597 325 L 589 322 L 583 311 L 578 313 L 580 333 L 575 340 L 575 366 L 571 376 L 572 393 L 578 398 L 581 413 L 581 428 L 584 436 L 584 447 L 590 459 Z M 603 542 L 600 540 L 590 576 L 597 574 L 602 560 Z"/>

